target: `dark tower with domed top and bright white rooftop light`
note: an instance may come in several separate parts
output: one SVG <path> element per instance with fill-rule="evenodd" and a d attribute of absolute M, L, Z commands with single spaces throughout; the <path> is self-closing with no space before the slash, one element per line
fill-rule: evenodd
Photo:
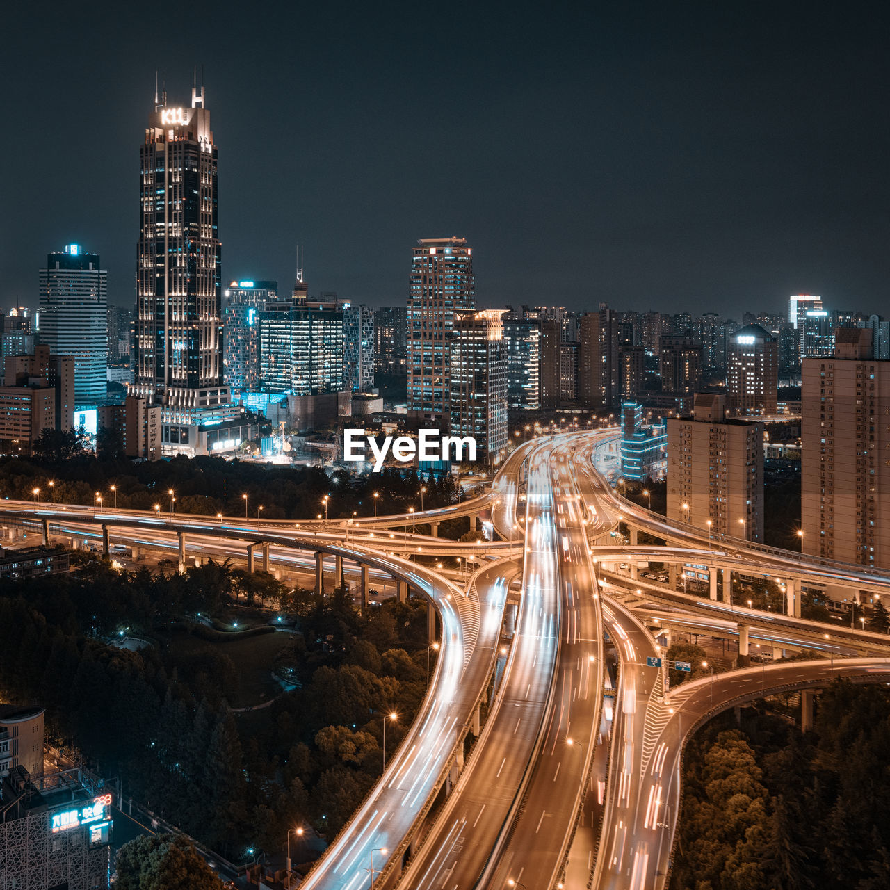
<path fill-rule="evenodd" d="M 778 389 L 779 344 L 760 325 L 741 328 L 732 337 L 726 367 L 730 414 L 775 414 Z"/>

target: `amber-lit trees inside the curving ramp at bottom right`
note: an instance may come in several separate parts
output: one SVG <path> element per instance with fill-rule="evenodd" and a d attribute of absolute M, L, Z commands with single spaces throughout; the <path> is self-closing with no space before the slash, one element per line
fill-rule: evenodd
<path fill-rule="evenodd" d="M 728 725 L 687 748 L 671 890 L 886 890 L 890 692 L 838 681 L 805 734 Z"/>

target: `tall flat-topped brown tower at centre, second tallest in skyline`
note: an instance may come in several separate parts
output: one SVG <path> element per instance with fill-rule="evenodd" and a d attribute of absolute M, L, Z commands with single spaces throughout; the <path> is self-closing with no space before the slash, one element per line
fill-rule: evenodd
<path fill-rule="evenodd" d="M 408 411 L 438 422 L 449 411 L 449 348 L 455 312 L 476 307 L 473 250 L 465 238 L 420 239 L 408 297 Z"/>

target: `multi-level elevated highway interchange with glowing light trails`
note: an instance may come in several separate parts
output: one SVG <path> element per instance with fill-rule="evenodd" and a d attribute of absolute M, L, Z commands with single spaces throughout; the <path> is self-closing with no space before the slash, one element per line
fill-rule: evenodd
<path fill-rule="evenodd" d="M 890 645 L 881 635 L 794 614 L 742 613 L 707 595 L 631 577 L 629 564 L 683 564 L 685 553 L 697 564 L 851 590 L 890 589 L 890 578 L 742 541 L 716 546 L 699 530 L 628 505 L 596 469 L 614 442 L 613 430 L 533 439 L 508 457 L 488 494 L 450 513 L 240 522 L 6 501 L 0 519 L 30 528 L 45 520 L 53 535 L 98 533 L 100 540 L 97 527 L 105 526 L 116 542 L 180 554 L 178 536 L 185 535 L 188 553 L 198 556 L 241 554 L 264 543 L 269 565 L 334 554 L 376 578 L 401 579 L 433 603 L 441 654 L 415 723 L 301 886 L 661 888 L 692 732 L 720 710 L 771 692 L 819 688 L 836 676 L 888 682 Z M 486 510 L 500 541 L 466 544 L 408 530 Z M 612 533 L 631 522 L 666 546 L 616 543 Z M 458 555 L 463 571 L 429 564 L 431 556 Z M 511 582 L 520 576 L 513 633 L 505 614 L 512 614 Z M 777 649 L 821 648 L 832 657 L 740 667 L 668 689 L 656 640 L 665 624 L 735 635 L 740 643 L 744 634 L 746 645 L 750 638 Z M 617 690 L 609 688 L 607 642 L 617 659 Z M 480 732 L 479 705 L 503 647 L 506 667 Z M 651 666 L 655 659 L 661 667 Z M 478 738 L 464 763 L 468 732 Z"/>

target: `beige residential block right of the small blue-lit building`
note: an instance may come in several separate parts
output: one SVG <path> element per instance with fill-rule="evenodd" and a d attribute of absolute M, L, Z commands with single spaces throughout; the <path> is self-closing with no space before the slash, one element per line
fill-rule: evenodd
<path fill-rule="evenodd" d="M 725 417 L 723 394 L 695 394 L 667 418 L 667 516 L 715 538 L 764 539 L 763 425 Z"/>

